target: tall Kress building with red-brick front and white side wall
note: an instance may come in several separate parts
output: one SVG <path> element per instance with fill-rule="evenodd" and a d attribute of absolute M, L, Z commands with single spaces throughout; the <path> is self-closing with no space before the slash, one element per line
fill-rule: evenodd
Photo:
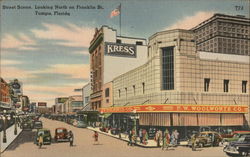
<path fill-rule="evenodd" d="M 146 39 L 117 36 L 116 30 L 102 26 L 96 29 L 89 47 L 92 110 L 110 105 L 111 97 L 105 97 L 103 91 L 110 91 L 112 80 L 146 62 Z"/>

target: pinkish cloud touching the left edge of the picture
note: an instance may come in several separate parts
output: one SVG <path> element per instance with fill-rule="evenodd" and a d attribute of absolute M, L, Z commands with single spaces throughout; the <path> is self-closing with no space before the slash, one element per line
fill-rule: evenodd
<path fill-rule="evenodd" d="M 17 37 L 6 34 L 1 40 L 1 46 L 4 49 L 35 50 L 36 48 L 33 47 L 35 45 L 36 42 L 23 33 L 19 33 Z"/>

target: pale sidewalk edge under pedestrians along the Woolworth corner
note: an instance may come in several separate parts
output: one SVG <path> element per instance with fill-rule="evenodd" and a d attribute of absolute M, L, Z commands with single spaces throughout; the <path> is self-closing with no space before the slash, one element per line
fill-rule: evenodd
<path fill-rule="evenodd" d="M 106 133 L 106 132 L 100 131 L 99 127 L 95 127 L 95 128 L 93 128 L 93 127 L 87 127 L 87 128 L 89 130 L 97 131 L 97 132 L 99 132 L 101 134 L 108 135 L 108 136 L 111 136 L 111 137 L 123 140 L 125 142 L 129 141 L 128 136 L 126 136 L 126 134 L 123 134 L 123 133 L 121 134 L 121 138 L 119 138 L 118 135 L 113 135 L 110 132 Z M 144 148 L 157 148 L 156 142 L 154 140 L 148 140 L 147 141 L 148 142 L 147 145 L 141 144 L 139 138 L 137 138 L 137 141 L 138 142 L 135 144 L 136 146 L 140 146 L 140 147 L 144 147 Z"/>

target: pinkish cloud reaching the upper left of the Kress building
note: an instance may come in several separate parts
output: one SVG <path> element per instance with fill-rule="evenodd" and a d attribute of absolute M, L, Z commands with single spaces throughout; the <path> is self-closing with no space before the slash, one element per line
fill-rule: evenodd
<path fill-rule="evenodd" d="M 59 45 L 71 47 L 89 47 L 94 29 L 66 23 L 66 27 L 57 24 L 42 24 L 45 29 L 32 29 L 37 38 L 60 40 Z"/>

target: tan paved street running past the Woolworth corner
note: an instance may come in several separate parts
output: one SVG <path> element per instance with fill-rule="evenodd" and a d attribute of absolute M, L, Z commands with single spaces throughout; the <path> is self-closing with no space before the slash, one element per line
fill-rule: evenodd
<path fill-rule="evenodd" d="M 69 143 L 64 142 L 52 143 L 38 149 L 33 144 L 35 132 L 23 131 L 1 157 L 226 157 L 222 147 L 202 148 L 195 152 L 187 147 L 162 151 L 160 148 L 129 147 L 124 141 L 102 134 L 99 145 L 94 145 L 93 131 L 44 118 L 42 121 L 44 127 L 51 130 L 52 137 L 57 127 L 72 130 L 75 137 L 74 147 L 69 147 Z"/>

